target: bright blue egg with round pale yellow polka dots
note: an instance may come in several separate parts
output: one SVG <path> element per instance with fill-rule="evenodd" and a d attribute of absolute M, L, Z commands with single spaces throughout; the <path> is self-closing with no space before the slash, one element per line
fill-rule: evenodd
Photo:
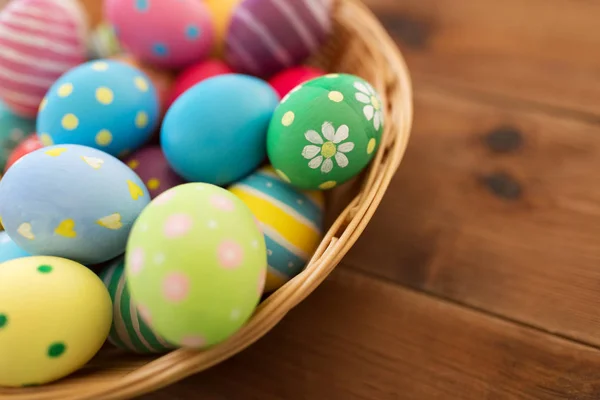
<path fill-rule="evenodd" d="M 79 144 L 121 157 L 150 139 L 159 101 L 150 78 L 120 61 L 96 60 L 58 79 L 40 105 L 44 145 Z"/>

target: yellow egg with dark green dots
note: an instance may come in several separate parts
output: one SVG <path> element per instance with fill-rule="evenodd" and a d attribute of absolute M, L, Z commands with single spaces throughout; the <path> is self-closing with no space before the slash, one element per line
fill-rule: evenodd
<path fill-rule="evenodd" d="M 110 329 L 102 281 L 74 261 L 27 257 L 0 268 L 0 386 L 33 386 L 83 367 Z"/>

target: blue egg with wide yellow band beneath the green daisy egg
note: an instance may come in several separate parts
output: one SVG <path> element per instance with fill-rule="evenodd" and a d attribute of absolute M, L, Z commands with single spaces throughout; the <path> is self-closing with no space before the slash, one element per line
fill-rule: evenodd
<path fill-rule="evenodd" d="M 264 167 L 229 187 L 259 221 L 267 244 L 265 293 L 277 290 L 298 275 L 323 235 L 324 197 L 299 191 Z"/>

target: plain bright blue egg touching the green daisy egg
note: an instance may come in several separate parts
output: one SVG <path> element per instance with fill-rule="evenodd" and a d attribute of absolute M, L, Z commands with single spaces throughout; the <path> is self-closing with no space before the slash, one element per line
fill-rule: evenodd
<path fill-rule="evenodd" d="M 266 157 L 266 134 L 277 93 L 258 78 L 227 74 L 207 79 L 173 103 L 161 130 L 171 167 L 191 182 L 224 186 Z"/>

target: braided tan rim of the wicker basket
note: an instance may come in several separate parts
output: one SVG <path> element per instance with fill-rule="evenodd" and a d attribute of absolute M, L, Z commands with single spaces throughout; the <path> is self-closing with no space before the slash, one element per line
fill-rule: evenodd
<path fill-rule="evenodd" d="M 413 123 L 413 91 L 400 50 L 368 7 L 360 0 L 335 0 L 335 4 L 337 18 L 355 20 L 360 16 L 361 32 L 372 36 L 369 45 L 385 61 L 387 70 L 381 74 L 385 76 L 378 75 L 372 83 L 387 100 L 386 120 L 392 124 L 386 124 L 383 140 L 390 145 L 380 146 L 363 189 L 331 225 L 304 271 L 263 301 L 240 331 L 217 346 L 203 351 L 174 350 L 118 378 L 27 389 L 0 388 L 0 399 L 120 400 L 169 386 L 232 357 L 263 337 L 339 264 L 373 217 L 404 157 Z M 390 94 L 385 91 L 388 81 L 397 86 Z"/>

